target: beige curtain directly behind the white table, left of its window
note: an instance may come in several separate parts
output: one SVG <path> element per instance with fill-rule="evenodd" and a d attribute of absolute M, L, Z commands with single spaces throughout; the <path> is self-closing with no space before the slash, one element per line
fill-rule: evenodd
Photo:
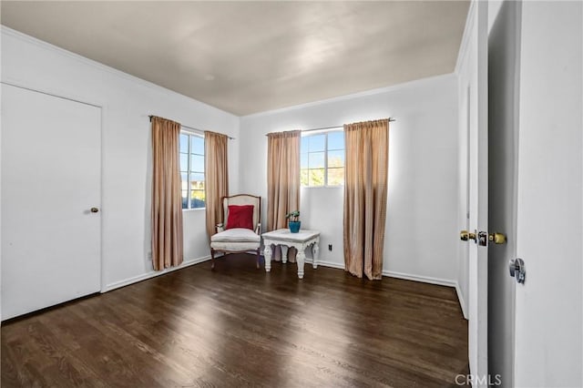
<path fill-rule="evenodd" d="M 268 134 L 267 138 L 267 230 L 288 228 L 285 215 L 300 209 L 299 130 Z M 273 260 L 280 260 L 276 250 Z M 295 261 L 295 250 L 288 252 Z"/>

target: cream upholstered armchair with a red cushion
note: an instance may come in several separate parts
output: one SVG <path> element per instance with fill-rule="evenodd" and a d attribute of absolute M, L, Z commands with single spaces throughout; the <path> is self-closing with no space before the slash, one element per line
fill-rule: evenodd
<path fill-rule="evenodd" d="M 253 252 L 260 268 L 261 197 L 239 194 L 222 199 L 223 221 L 217 233 L 210 237 L 211 268 L 215 268 L 215 253 Z"/>

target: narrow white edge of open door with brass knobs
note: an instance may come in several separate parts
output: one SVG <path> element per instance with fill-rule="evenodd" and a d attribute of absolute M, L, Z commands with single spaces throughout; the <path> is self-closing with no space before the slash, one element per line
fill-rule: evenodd
<path fill-rule="evenodd" d="M 476 69 L 470 88 L 469 109 L 469 363 L 474 386 L 488 384 L 487 359 L 487 238 L 479 243 L 480 231 L 488 230 L 488 91 L 487 91 L 487 2 L 476 2 L 474 42 Z"/>

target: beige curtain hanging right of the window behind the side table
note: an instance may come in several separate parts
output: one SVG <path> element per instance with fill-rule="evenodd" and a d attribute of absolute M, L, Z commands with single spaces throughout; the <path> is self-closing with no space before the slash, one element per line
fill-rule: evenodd
<path fill-rule="evenodd" d="M 389 120 L 344 126 L 344 264 L 359 278 L 382 279 Z"/>

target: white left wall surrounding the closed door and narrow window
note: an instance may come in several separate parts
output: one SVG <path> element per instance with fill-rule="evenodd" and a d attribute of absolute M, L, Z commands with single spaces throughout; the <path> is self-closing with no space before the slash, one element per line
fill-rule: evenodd
<path fill-rule="evenodd" d="M 2 81 L 102 107 L 102 291 L 152 276 L 148 115 L 225 133 L 239 190 L 239 117 L 2 27 Z M 184 212 L 185 261 L 209 255 L 205 214 Z"/>

